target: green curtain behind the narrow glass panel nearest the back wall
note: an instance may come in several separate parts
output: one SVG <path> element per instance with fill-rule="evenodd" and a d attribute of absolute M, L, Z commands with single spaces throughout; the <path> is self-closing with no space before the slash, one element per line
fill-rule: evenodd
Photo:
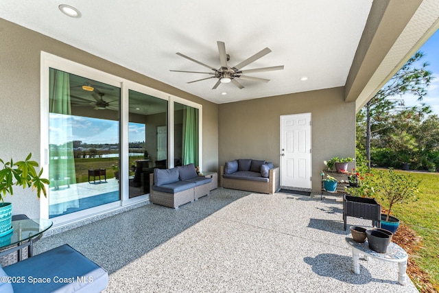
<path fill-rule="evenodd" d="M 183 165 L 198 166 L 198 109 L 186 106 L 183 111 Z"/>

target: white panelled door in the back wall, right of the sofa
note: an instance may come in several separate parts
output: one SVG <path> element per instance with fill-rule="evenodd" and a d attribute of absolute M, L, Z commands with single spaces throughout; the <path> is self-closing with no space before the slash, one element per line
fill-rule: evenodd
<path fill-rule="evenodd" d="M 311 113 L 281 116 L 281 186 L 311 189 Z"/>

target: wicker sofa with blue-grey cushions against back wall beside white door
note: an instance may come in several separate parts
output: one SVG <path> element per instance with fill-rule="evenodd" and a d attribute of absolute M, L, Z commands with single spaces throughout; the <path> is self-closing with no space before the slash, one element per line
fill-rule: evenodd
<path fill-rule="evenodd" d="M 279 168 L 263 160 L 228 161 L 219 170 L 221 187 L 274 194 L 279 189 Z"/>

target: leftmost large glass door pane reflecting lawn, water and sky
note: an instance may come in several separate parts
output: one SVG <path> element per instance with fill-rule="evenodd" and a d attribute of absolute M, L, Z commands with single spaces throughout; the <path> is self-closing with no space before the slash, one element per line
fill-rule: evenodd
<path fill-rule="evenodd" d="M 121 91 L 49 69 L 49 218 L 120 199 Z"/>

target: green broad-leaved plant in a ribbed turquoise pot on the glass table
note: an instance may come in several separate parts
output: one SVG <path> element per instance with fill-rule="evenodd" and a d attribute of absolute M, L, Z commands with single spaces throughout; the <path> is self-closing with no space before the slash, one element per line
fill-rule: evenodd
<path fill-rule="evenodd" d="M 32 191 L 36 189 L 36 196 L 40 198 L 40 194 L 43 193 L 47 197 L 47 190 L 45 185 L 49 185 L 49 180 L 41 178 L 43 174 L 43 168 L 40 172 L 36 172 L 38 163 L 31 161 L 32 153 L 27 155 L 25 161 L 18 161 L 14 163 L 12 159 L 10 161 L 3 161 L 0 159 L 0 163 L 3 165 L 0 169 L 0 234 L 12 232 L 11 218 L 12 218 L 12 204 L 5 202 L 5 196 L 14 194 L 14 187 L 19 186 L 25 189 L 31 187 Z"/>

